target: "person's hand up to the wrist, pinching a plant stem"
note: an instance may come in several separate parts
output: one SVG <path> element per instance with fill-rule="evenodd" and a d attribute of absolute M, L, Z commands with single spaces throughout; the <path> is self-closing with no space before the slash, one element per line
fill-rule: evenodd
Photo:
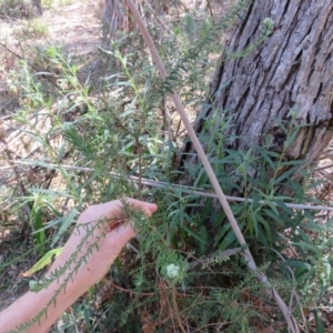
<path fill-rule="evenodd" d="M 141 210 L 147 216 L 151 216 L 158 209 L 153 203 L 148 203 L 134 199 L 127 199 L 130 208 Z M 70 259 L 72 253 L 78 251 L 82 240 L 87 238 L 87 241 L 82 244 L 77 259 L 82 258 L 89 246 L 92 244 L 98 245 L 98 250 L 94 246 L 92 253 L 88 256 L 87 261 L 83 261 L 74 278 L 74 286 L 85 291 L 92 284 L 99 282 L 110 269 L 110 265 L 114 259 L 119 255 L 123 245 L 134 236 L 134 231 L 131 223 L 120 223 L 123 219 L 123 203 L 120 200 L 107 202 L 103 204 L 97 204 L 89 206 L 79 218 L 77 229 L 71 234 L 70 239 L 65 243 L 61 254 L 57 258 L 50 272 L 63 266 Z M 103 222 L 101 222 L 103 221 Z M 129 221 L 127 221 L 129 222 Z M 97 223 L 100 223 L 98 228 L 94 228 Z M 87 224 L 89 228 L 83 228 Z M 88 229 L 94 228 L 93 232 L 88 235 Z M 75 263 L 71 265 L 69 271 L 73 269 Z M 62 279 L 65 279 L 67 274 Z"/>

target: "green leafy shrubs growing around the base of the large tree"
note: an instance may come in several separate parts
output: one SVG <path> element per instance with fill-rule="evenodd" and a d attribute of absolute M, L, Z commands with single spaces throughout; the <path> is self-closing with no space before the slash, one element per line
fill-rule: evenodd
<path fill-rule="evenodd" d="M 208 16 L 199 20 L 189 12 L 170 23 L 169 34 L 152 26 L 151 30 L 162 36 L 160 50 L 170 72 L 164 82 L 134 32 L 100 49 L 101 59 L 109 64 L 100 73 L 102 83 L 89 77 L 80 80 L 77 64 L 56 47 L 38 54 L 43 68 L 36 71 L 22 60 L 11 74 L 20 108 L 8 127 L 22 137 L 22 144 L 11 149 L 20 151 L 13 170 L 21 175 L 17 182 L 24 193 L 6 184 L 3 205 L 12 219 L 29 221 L 24 228 L 41 256 L 64 243 L 78 213 L 89 204 L 135 196 L 159 205 L 151 221 L 129 212 L 139 232 L 131 248 L 137 253 L 125 251 L 105 280 L 73 305 L 72 314 L 63 314 L 63 329 L 80 325 L 89 332 L 103 332 L 108 326 L 112 332 L 141 332 L 151 326 L 167 332 L 178 330 L 176 317 L 193 332 L 256 332 L 270 324 L 272 313 L 261 312 L 270 300 L 246 271 L 242 256 L 222 255 L 238 248 L 224 212 L 216 209 L 213 199 L 194 192 L 212 190 L 205 172 L 200 164 L 176 168 L 184 135 L 168 98 L 172 89 L 179 90 L 194 115 L 200 108 L 210 107 L 210 101 L 203 100 L 209 74 L 220 61 L 216 39 L 238 20 L 246 2 L 238 1 L 221 20 Z M 270 23 L 263 22 L 262 37 L 244 52 L 229 56 L 252 52 L 269 38 Z M 303 320 L 303 306 L 320 317 L 315 303 L 332 283 L 332 221 L 323 224 L 311 211 L 286 205 L 315 202 L 306 196 L 314 186 L 306 161 L 285 159 L 301 129 L 295 118 L 296 111 L 291 110 L 290 119 L 278 123 L 285 134 L 282 143 L 266 138 L 265 145 L 242 152 L 232 150 L 229 141 L 233 138 L 224 135 L 231 115 L 215 110 L 205 122 L 210 134 L 200 140 L 225 193 L 243 193 L 245 202 L 233 203 L 232 210 L 256 262 L 285 300 L 292 289 L 295 291 L 299 297 L 291 306 L 299 306 L 299 320 Z M 193 180 L 190 191 L 178 185 L 186 176 Z M 167 185 L 145 186 L 144 178 Z M 89 225 L 84 228 L 88 235 L 93 232 Z M 295 258 L 286 255 L 291 246 Z M 74 278 L 97 248 L 92 244 L 79 260 L 73 253 L 67 266 L 50 279 L 37 279 L 31 289 L 47 287 L 71 262 L 75 265 L 69 279 Z M 64 287 L 65 282 L 48 306 Z M 98 305 L 94 294 L 101 297 Z M 48 307 L 18 331 L 47 312 Z M 275 315 L 278 311 L 272 312 Z"/>

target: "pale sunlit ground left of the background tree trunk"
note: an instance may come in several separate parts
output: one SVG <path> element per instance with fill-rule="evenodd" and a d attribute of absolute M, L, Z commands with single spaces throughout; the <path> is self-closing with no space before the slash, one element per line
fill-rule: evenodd
<path fill-rule="evenodd" d="M 18 67 L 19 60 L 28 58 L 29 63 L 33 62 L 33 59 L 29 59 L 29 51 L 56 46 L 72 61 L 88 68 L 91 65 L 101 42 L 100 4 L 102 2 L 97 4 L 84 0 L 68 6 L 54 4 L 32 20 L 0 17 L 0 115 L 17 105 L 16 94 L 10 90 L 9 74 Z M 37 33 L 37 29 L 42 32 Z M 39 63 L 31 65 L 39 68 Z"/>

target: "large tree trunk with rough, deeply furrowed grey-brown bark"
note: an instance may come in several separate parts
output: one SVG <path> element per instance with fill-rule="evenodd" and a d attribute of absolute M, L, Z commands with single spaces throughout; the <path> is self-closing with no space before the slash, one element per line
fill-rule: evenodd
<path fill-rule="evenodd" d="M 270 38 L 250 56 L 235 58 L 261 34 L 265 18 L 273 20 Z M 333 2 L 332 0 L 269 0 L 251 2 L 232 34 L 210 89 L 214 108 L 202 110 L 198 133 L 214 110 L 233 115 L 224 132 L 233 149 L 279 145 L 281 121 L 304 124 L 286 151 L 290 160 L 316 161 L 332 138 Z M 185 152 L 193 153 L 191 143 Z M 188 162 L 195 162 L 195 154 Z"/>

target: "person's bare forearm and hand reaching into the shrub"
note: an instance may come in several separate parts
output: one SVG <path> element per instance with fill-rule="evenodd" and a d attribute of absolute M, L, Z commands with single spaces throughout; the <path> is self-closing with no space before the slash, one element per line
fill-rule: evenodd
<path fill-rule="evenodd" d="M 127 199 L 127 203 L 130 208 L 141 210 L 148 216 L 158 209 L 153 203 L 134 199 Z M 27 322 L 33 322 L 39 314 L 42 314 L 41 317 L 24 332 L 48 332 L 63 311 L 78 300 L 89 286 L 104 276 L 123 245 L 134 235 L 130 223 L 120 223 L 120 219 L 125 218 L 122 209 L 122 202 L 115 200 L 91 205 L 80 215 L 77 229 L 65 243 L 61 254 L 56 259 L 49 274 L 56 273 L 57 269 L 59 270 L 71 262 L 70 259 L 73 253 L 77 254 L 75 260 L 72 260 L 65 272 L 48 287 L 37 293 L 26 293 L 1 312 L 0 333 L 17 330 L 22 324 L 27 325 Z M 98 249 L 94 244 L 98 245 Z M 87 256 L 85 254 L 91 246 L 94 249 Z M 82 258 L 85 258 L 85 261 L 80 261 Z M 74 270 L 79 263 L 79 269 Z M 70 275 L 71 272 L 75 274 Z M 65 287 L 62 286 L 64 284 Z M 59 290 L 64 292 L 59 293 Z M 54 297 L 54 293 L 57 294 L 57 302 L 52 302 L 52 306 L 50 306 L 50 300 Z"/>

